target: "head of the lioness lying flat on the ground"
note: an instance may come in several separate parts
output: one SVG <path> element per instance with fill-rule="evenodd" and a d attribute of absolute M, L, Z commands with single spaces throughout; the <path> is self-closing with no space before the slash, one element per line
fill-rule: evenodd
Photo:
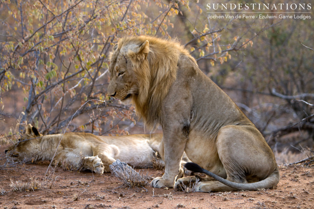
<path fill-rule="evenodd" d="M 28 124 L 25 133 L 17 144 L 12 144 L 5 150 L 9 163 L 17 161 L 31 161 L 31 158 L 40 152 L 39 141 L 42 137 L 35 127 Z"/>

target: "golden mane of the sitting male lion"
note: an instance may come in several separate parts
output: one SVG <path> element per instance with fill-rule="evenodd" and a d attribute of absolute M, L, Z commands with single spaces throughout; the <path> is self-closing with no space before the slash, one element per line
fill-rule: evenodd
<path fill-rule="evenodd" d="M 133 97 L 132 102 L 146 125 L 155 128 L 163 121 L 161 104 L 176 79 L 180 54 L 187 56 L 190 54 L 176 39 L 165 40 L 150 36 L 122 38 L 118 42 L 117 50 L 134 44 L 139 46 L 145 44 L 145 47 L 138 53 L 133 50 L 128 50 L 127 53 L 139 86 L 138 95 Z M 111 55 L 113 62 L 116 61 L 118 54 Z M 190 57 L 195 62 L 192 56 Z"/>

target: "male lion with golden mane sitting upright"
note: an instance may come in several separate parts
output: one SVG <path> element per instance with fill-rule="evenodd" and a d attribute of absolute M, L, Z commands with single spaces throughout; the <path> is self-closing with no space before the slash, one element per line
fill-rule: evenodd
<path fill-rule="evenodd" d="M 148 126 L 162 127 L 165 174 L 152 180 L 153 187 L 179 188 L 195 181 L 175 182 L 183 151 L 192 162 L 230 182 L 227 186 L 219 178 L 206 178 L 198 191 L 257 190 L 279 182 L 274 154 L 263 135 L 177 41 L 122 38 L 113 47 L 109 71 L 108 95 L 131 101 Z"/>

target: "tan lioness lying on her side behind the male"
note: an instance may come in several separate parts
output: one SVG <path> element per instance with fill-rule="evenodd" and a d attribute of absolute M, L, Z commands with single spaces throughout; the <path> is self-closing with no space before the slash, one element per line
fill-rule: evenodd
<path fill-rule="evenodd" d="M 36 163 L 40 160 L 51 160 L 61 137 L 62 134 L 43 136 L 35 127 L 28 124 L 19 142 L 5 150 L 6 158 L 10 162 L 26 160 Z M 161 133 L 124 136 L 64 133 L 54 159 L 59 165 L 62 160 L 67 160 L 77 167 L 83 156 L 83 168 L 97 174 L 110 172 L 109 165 L 116 159 L 137 168 L 148 168 L 152 166 L 152 159 L 159 151 L 161 139 Z M 189 161 L 186 155 L 184 160 L 182 163 Z"/>

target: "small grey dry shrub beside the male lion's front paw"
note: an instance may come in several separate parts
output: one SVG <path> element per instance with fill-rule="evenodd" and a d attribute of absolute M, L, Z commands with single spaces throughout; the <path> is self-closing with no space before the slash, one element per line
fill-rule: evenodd
<path fill-rule="evenodd" d="M 120 181 L 129 187 L 140 187 L 149 184 L 150 177 L 148 172 L 146 175 L 143 175 L 143 172 L 135 171 L 131 166 L 127 165 L 124 162 L 121 162 L 119 159 L 116 162 L 109 165 L 112 175 L 115 175 Z"/>

